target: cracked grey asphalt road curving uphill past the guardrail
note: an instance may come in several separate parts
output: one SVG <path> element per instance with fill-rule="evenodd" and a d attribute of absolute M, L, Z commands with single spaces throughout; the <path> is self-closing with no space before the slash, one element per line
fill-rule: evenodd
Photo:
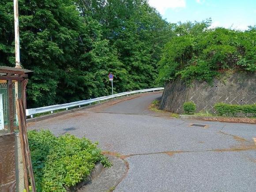
<path fill-rule="evenodd" d="M 29 128 L 86 136 L 105 151 L 126 155 L 129 171 L 118 192 L 256 190 L 255 124 L 184 121 L 148 110 L 160 97 L 126 97 Z"/>

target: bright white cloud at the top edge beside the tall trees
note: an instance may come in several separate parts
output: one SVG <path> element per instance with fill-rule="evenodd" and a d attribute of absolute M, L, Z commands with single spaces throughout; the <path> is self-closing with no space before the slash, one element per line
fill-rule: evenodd
<path fill-rule="evenodd" d="M 168 8 L 184 8 L 185 0 L 148 0 L 148 3 L 156 8 L 160 14 L 164 14 Z"/>

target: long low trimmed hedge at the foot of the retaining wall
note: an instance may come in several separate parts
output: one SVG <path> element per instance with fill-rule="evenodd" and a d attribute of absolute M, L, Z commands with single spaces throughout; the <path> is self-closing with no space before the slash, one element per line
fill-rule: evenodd
<path fill-rule="evenodd" d="M 252 117 L 256 117 L 256 104 L 252 105 L 230 105 L 226 103 L 216 103 L 214 109 L 221 116 L 236 116 L 237 113 L 243 113 L 247 115 L 251 113 Z"/>

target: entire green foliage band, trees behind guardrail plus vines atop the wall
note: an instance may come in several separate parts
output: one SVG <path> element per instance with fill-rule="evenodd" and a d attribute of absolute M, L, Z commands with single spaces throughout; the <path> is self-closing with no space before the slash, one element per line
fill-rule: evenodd
<path fill-rule="evenodd" d="M 108 95 L 109 72 L 114 92 L 177 76 L 211 82 L 233 63 L 254 72 L 255 27 L 210 25 L 211 19 L 168 23 L 147 0 L 19 0 L 21 63 L 34 71 L 28 107 Z M 0 1 L 0 34 L 0 65 L 14 66 L 13 0 Z"/>

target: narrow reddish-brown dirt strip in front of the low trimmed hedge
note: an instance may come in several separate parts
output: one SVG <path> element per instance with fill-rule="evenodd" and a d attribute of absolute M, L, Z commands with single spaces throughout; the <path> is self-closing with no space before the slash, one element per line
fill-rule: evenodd
<path fill-rule="evenodd" d="M 227 122 L 227 123 L 256 124 L 256 118 L 248 118 L 248 117 L 203 117 L 200 120 L 219 121 L 219 122 Z"/>

